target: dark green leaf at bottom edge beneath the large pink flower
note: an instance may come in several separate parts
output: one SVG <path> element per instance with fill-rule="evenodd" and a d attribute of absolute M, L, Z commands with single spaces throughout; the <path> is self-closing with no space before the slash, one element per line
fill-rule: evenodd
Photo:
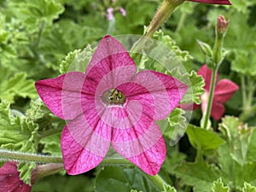
<path fill-rule="evenodd" d="M 122 192 L 131 192 L 131 189 L 158 192 L 154 184 L 149 183 L 137 168 L 104 167 L 96 177 L 96 192 L 116 192 L 120 189 Z"/>

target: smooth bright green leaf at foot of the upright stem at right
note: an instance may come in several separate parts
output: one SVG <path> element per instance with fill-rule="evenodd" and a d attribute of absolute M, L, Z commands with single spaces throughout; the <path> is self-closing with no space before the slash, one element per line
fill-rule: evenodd
<path fill-rule="evenodd" d="M 207 131 L 200 127 L 196 127 L 195 125 L 188 126 L 187 135 L 191 145 L 198 150 L 202 150 L 203 152 L 216 150 L 221 144 L 224 143 L 224 139 L 218 137 L 217 133 Z"/>

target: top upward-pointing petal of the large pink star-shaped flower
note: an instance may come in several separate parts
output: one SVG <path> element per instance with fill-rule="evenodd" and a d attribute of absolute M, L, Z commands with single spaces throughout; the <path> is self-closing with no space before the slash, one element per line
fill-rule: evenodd
<path fill-rule="evenodd" d="M 93 72 L 90 73 L 91 69 L 98 64 L 102 67 L 94 68 Z M 109 71 L 124 66 L 133 66 L 136 72 L 136 66 L 131 56 L 125 49 L 125 47 L 119 43 L 119 41 L 110 35 L 102 38 L 98 45 L 95 54 L 92 56 L 91 61 L 86 68 L 85 74 L 97 81 L 100 81 Z"/>

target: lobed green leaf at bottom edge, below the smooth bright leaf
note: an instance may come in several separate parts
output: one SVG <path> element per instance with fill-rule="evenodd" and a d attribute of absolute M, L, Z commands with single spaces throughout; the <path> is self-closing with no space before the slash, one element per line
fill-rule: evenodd
<path fill-rule="evenodd" d="M 215 165 L 200 161 L 184 162 L 175 168 L 175 174 L 181 178 L 182 185 L 193 186 L 194 192 L 210 191 L 212 183 L 221 177 L 221 172 Z"/>

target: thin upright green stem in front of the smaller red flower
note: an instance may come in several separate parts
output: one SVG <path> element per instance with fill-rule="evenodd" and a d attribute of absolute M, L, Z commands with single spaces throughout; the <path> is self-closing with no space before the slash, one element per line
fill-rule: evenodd
<path fill-rule="evenodd" d="M 211 79 L 211 85 L 210 85 L 210 93 L 209 93 L 209 100 L 207 104 L 207 113 L 205 115 L 203 128 L 207 129 L 207 124 L 210 119 L 210 114 L 212 110 L 212 100 L 213 100 L 213 94 L 214 94 L 214 88 L 215 88 L 215 79 L 218 72 L 218 67 L 214 67 L 212 69 L 212 79 Z"/>

